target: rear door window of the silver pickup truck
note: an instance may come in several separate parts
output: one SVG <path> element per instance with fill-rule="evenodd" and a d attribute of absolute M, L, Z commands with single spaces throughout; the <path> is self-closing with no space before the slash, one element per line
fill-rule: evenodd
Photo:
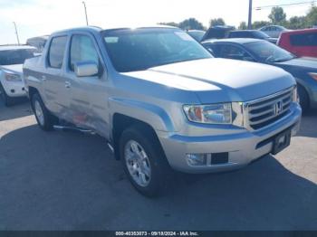
<path fill-rule="evenodd" d="M 48 52 L 48 65 L 51 68 L 62 68 L 62 60 L 67 43 L 67 36 L 58 36 L 52 39 Z"/>

